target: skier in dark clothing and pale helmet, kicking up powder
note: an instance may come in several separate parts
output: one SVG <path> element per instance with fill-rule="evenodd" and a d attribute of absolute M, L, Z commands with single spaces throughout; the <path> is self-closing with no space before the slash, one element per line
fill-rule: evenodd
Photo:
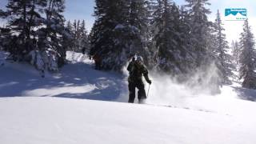
<path fill-rule="evenodd" d="M 151 80 L 148 77 L 148 70 L 146 66 L 143 64 L 143 58 L 138 56 L 137 59 L 132 59 L 127 67 L 129 71 L 129 78 L 128 78 L 128 88 L 129 88 L 129 101 L 130 103 L 134 103 L 135 98 L 135 88 L 138 88 L 138 103 L 143 103 L 146 100 L 146 92 L 144 89 L 144 83 L 142 82 L 142 74 L 146 79 L 146 82 L 151 84 Z"/>

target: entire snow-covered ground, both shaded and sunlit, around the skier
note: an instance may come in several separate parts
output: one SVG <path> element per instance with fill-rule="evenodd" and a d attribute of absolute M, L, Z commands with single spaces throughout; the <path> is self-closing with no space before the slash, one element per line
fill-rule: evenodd
<path fill-rule="evenodd" d="M 25 63 L 0 66 L 1 144 L 256 142 L 255 90 L 223 86 L 211 96 L 153 78 L 150 104 L 128 104 L 125 76 L 94 70 L 82 54 L 67 57 L 46 78 Z"/>

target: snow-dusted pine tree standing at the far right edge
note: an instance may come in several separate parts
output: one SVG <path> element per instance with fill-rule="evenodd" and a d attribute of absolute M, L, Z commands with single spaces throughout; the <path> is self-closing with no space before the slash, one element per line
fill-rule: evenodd
<path fill-rule="evenodd" d="M 243 78 L 242 86 L 256 89 L 255 49 L 254 34 L 252 34 L 248 20 L 243 25 L 243 32 L 239 42 L 242 52 L 240 55 L 240 78 Z"/>

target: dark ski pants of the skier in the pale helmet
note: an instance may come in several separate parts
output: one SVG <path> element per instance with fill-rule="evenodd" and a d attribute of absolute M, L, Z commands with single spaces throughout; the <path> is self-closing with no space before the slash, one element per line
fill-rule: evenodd
<path fill-rule="evenodd" d="M 138 80 L 136 82 L 129 82 L 129 101 L 130 103 L 134 103 L 135 98 L 135 88 L 138 88 L 138 100 L 146 99 L 146 92 L 144 88 L 144 83 L 142 80 Z"/>

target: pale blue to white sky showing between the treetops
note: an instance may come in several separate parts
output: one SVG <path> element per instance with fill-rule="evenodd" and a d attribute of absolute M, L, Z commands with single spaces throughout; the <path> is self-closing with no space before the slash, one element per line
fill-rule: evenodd
<path fill-rule="evenodd" d="M 174 2 L 178 3 L 178 5 L 182 5 L 185 3 L 185 0 L 174 0 Z M 256 23 L 256 0 L 210 0 L 209 2 L 211 6 L 208 6 L 208 8 L 212 11 L 209 18 L 211 21 L 214 21 L 217 10 L 220 10 L 229 42 L 233 39 L 238 39 L 238 35 L 242 32 L 242 22 L 224 21 L 225 8 L 246 8 L 250 26 L 252 26 L 254 34 L 256 34 L 256 26 L 253 26 L 253 24 Z M 7 0 L 0 0 L 0 8 L 6 6 L 6 3 Z M 64 14 L 66 19 L 70 19 L 71 21 L 74 19 L 85 19 L 87 30 L 90 30 L 93 26 L 93 12 L 94 0 L 66 0 L 66 12 Z"/>

